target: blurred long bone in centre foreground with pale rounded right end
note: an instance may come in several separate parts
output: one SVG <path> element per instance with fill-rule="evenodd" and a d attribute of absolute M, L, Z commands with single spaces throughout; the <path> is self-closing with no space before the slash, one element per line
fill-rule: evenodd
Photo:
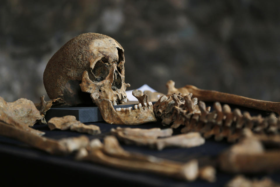
<path fill-rule="evenodd" d="M 197 160 L 190 160 L 187 163 L 175 162 L 161 159 L 150 155 L 131 153 L 120 147 L 118 140 L 114 136 L 104 138 L 104 145 L 100 148 L 88 148 L 88 153 L 81 149 L 83 153 L 78 152 L 79 159 L 101 163 L 111 167 L 121 169 L 152 172 L 160 175 L 170 176 L 173 178 L 193 181 L 198 176 Z"/>

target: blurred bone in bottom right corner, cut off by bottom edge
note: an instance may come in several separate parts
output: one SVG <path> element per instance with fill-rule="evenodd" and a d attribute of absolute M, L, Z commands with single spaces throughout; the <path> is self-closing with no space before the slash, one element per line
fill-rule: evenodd
<path fill-rule="evenodd" d="M 237 175 L 231 179 L 226 185 L 226 187 L 280 187 L 280 184 L 275 183 L 271 179 L 264 177 L 260 180 L 258 179 L 247 179 L 242 175 Z"/>

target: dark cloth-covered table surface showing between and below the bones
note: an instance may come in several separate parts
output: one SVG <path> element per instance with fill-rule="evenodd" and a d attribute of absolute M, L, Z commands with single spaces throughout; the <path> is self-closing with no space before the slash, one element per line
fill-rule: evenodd
<path fill-rule="evenodd" d="M 255 113 L 268 114 L 262 111 L 246 110 L 249 110 L 252 115 Z M 106 122 L 86 124 L 98 125 L 102 133 L 99 135 L 84 135 L 87 135 L 90 139 L 99 138 L 101 140 L 104 136 L 110 134 L 111 128 L 116 127 L 167 128 L 163 127 L 160 122 L 137 126 L 113 125 Z M 34 129 L 44 131 L 46 132 L 45 137 L 54 139 L 81 135 L 81 133 L 70 130 L 50 131 L 47 125 L 40 124 L 35 124 Z M 180 128 L 174 130 L 174 134 L 178 133 L 180 133 Z M 154 155 L 160 158 L 180 162 L 187 162 L 190 159 L 197 158 L 200 164 L 215 164 L 217 155 L 232 144 L 227 143 L 225 140 L 216 142 L 213 138 L 209 138 L 206 139 L 205 144 L 202 146 L 194 148 L 165 148 L 161 151 L 145 146 L 139 147 L 123 143 L 121 145 L 125 150 Z M 20 141 L 3 136 L 0 136 L 0 164 L 2 170 L 0 186 L 13 186 L 15 184 L 32 186 L 76 186 L 82 184 L 101 184 L 102 186 L 224 186 L 227 181 L 235 176 L 217 169 L 217 181 L 215 183 L 208 183 L 200 179 L 193 182 L 182 181 L 157 174 L 126 171 L 92 162 L 80 162 L 74 160 L 74 155 L 49 155 L 41 150 L 31 148 Z M 10 179 L 11 176 L 12 179 Z M 280 172 L 246 176 L 249 178 L 269 176 L 274 181 L 280 182 Z"/>

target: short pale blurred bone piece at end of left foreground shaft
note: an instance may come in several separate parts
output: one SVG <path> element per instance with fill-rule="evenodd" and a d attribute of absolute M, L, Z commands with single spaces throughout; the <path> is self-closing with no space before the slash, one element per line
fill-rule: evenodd
<path fill-rule="evenodd" d="M 62 138 L 58 142 L 64 145 L 69 153 L 79 150 L 80 148 L 85 148 L 90 143 L 87 136 Z"/>

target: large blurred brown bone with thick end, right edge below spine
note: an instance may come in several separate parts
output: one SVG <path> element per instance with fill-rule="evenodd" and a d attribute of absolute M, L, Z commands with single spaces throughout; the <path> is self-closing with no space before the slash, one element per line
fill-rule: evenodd
<path fill-rule="evenodd" d="M 250 130 L 244 129 L 244 131 Z M 259 136 L 253 133 L 248 136 L 247 132 L 244 139 L 219 155 L 220 169 L 233 173 L 271 172 L 280 169 L 279 137 L 269 136 L 271 135 L 265 138 L 265 135 Z M 276 148 L 266 150 L 264 144 L 267 143 L 269 147 Z"/>

